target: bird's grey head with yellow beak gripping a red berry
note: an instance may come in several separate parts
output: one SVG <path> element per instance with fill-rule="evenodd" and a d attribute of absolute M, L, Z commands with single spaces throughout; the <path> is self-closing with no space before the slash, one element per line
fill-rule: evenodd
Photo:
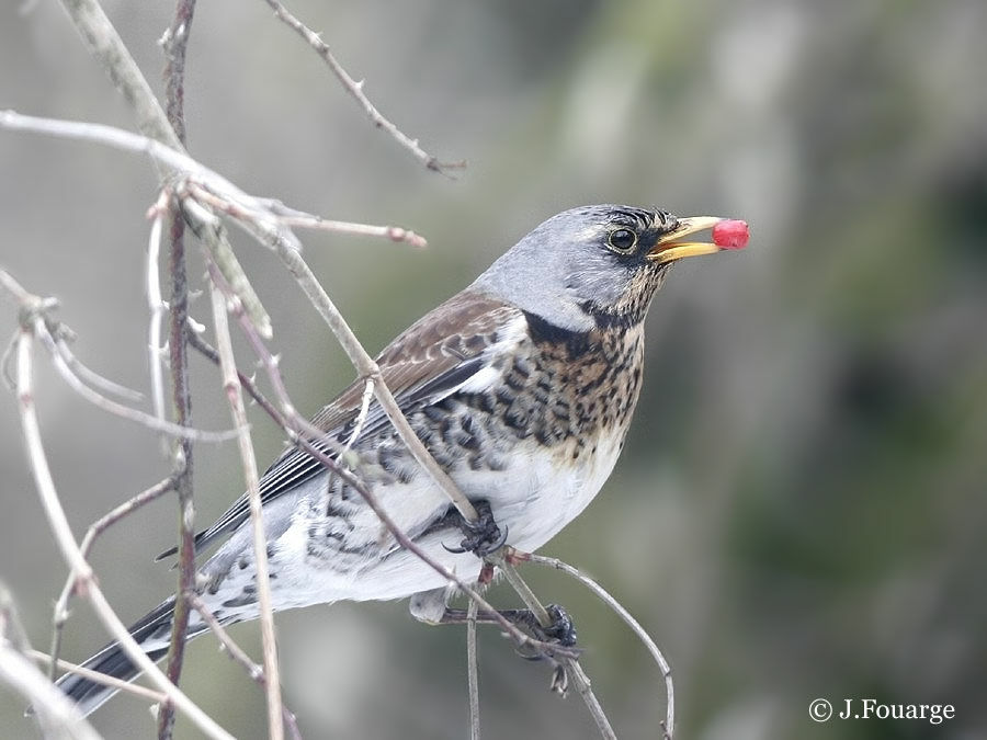
<path fill-rule="evenodd" d="M 706 229 L 713 229 L 712 241 L 683 240 Z M 572 331 L 632 326 L 644 319 L 672 262 L 746 243 L 742 221 L 585 206 L 541 224 L 474 285 Z"/>

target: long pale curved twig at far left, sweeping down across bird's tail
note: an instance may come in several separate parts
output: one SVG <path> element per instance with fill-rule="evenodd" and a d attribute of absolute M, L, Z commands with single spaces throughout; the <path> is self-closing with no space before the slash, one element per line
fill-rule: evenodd
<path fill-rule="evenodd" d="M 25 307 L 25 310 L 27 309 L 30 309 L 30 306 Z M 34 407 L 33 367 L 31 361 L 34 339 L 32 329 L 43 322 L 38 319 L 32 325 L 26 317 L 25 321 L 26 326 L 22 326 L 16 349 L 18 401 L 24 443 L 27 448 L 27 459 L 42 506 L 63 558 L 76 574 L 79 593 L 84 594 L 89 599 L 100 621 L 113 638 L 120 642 L 121 649 L 123 649 L 127 658 L 146 673 L 156 686 L 168 695 L 169 702 L 173 703 L 208 737 L 231 740 L 232 736 L 219 727 L 212 717 L 198 708 L 178 686 L 171 683 L 160 669 L 155 665 L 154 661 L 147 657 L 147 653 L 140 649 L 140 646 L 137 645 L 137 641 L 131 636 L 126 626 L 120 621 L 113 607 L 103 596 L 103 592 L 93 578 L 92 569 L 86 561 L 86 558 L 82 557 L 55 489 L 55 481 L 52 479 L 52 471 L 42 444 L 41 430 Z"/>

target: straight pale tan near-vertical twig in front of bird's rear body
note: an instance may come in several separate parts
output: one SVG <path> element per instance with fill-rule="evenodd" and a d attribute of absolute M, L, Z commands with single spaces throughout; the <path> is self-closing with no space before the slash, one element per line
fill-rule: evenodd
<path fill-rule="evenodd" d="M 216 348 L 219 352 L 219 366 L 223 371 L 223 386 L 229 400 L 230 415 L 234 424 L 240 430 L 238 437 L 240 463 L 247 483 L 247 502 L 250 506 L 250 524 L 253 528 L 253 559 L 257 569 L 257 597 L 260 607 L 261 639 L 264 654 L 264 675 L 268 681 L 264 690 L 268 698 L 268 733 L 272 740 L 284 737 L 281 711 L 281 681 L 277 671 L 277 647 L 274 638 L 274 607 L 271 601 L 271 581 L 268 572 L 268 544 L 264 533 L 263 514 L 261 513 L 260 480 L 257 470 L 257 458 L 247 425 L 247 411 L 240 394 L 237 378 L 236 360 L 232 341 L 229 335 L 229 323 L 226 317 L 226 299 L 217 286 L 222 281 L 215 264 L 209 263 L 213 283 L 209 295 L 213 301 L 213 323 L 216 331 Z"/>

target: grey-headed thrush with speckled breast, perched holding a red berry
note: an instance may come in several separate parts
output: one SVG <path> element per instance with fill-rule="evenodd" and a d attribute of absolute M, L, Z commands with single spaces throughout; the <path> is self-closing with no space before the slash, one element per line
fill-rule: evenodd
<path fill-rule="evenodd" d="M 682 241 L 707 229 L 713 241 Z M 476 581 L 478 555 L 503 542 L 538 549 L 603 487 L 642 389 L 645 317 L 671 265 L 746 242 L 746 224 L 730 219 L 610 204 L 565 210 L 381 352 L 383 380 L 477 506 L 479 523 L 463 521 L 376 402 L 359 425 L 362 382 L 311 423 L 325 433 L 327 454 L 348 447 L 348 467 L 408 537 Z M 308 452 L 286 447 L 261 478 L 260 496 L 275 611 L 409 599 L 416 617 L 443 622 L 446 579 L 401 547 L 359 491 Z M 258 618 L 246 494 L 195 537 L 196 554 L 216 545 L 197 568 L 201 600 L 223 625 Z M 172 596 L 131 627 L 154 660 L 168 651 L 173 614 Z M 206 631 L 193 613 L 188 637 Z M 82 665 L 125 681 L 139 674 L 117 644 Z M 115 693 L 73 673 L 58 686 L 86 715 Z"/>

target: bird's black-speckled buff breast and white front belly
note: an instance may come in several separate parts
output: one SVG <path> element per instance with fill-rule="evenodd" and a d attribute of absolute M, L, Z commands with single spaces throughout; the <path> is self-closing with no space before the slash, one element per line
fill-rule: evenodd
<path fill-rule="evenodd" d="M 522 549 L 544 545 L 597 496 L 623 448 L 640 389 L 643 332 L 522 341 L 483 390 L 443 403 L 429 446 L 470 498 L 488 499 Z M 494 379 L 496 377 L 496 379 Z"/>

